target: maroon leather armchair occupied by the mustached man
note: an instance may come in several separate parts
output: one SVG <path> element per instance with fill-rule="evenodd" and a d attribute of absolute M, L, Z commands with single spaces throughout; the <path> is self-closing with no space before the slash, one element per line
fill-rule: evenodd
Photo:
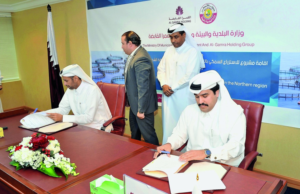
<path fill-rule="evenodd" d="M 244 109 L 246 116 L 246 141 L 245 141 L 245 157 L 241 161 L 238 168 L 243 168 L 252 171 L 254 163 L 256 162 L 256 156 L 258 156 L 257 143 L 262 123 L 262 113 L 264 105 L 255 102 L 249 102 L 244 100 L 234 100 L 235 103 L 241 105 Z M 187 140 L 188 141 L 188 140 Z M 180 148 L 176 149 L 181 151 L 187 142 L 184 143 Z"/>

